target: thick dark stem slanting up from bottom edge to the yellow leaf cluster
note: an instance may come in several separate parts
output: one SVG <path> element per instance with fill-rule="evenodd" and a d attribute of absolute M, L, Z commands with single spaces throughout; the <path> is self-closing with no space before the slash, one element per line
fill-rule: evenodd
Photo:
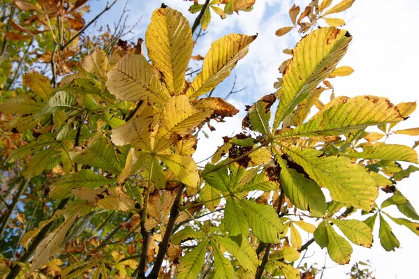
<path fill-rule="evenodd" d="M 184 188 L 184 184 L 180 183 L 179 189 L 177 189 L 175 202 L 173 202 L 172 208 L 170 209 L 170 218 L 168 221 L 168 226 L 166 227 L 166 232 L 163 236 L 163 241 L 161 241 L 161 243 L 159 244 L 159 253 L 157 254 L 156 261 L 154 261 L 152 272 L 149 274 L 147 278 L 156 279 L 159 277 L 161 264 L 163 264 L 163 259 L 166 256 L 166 253 L 168 252 L 170 237 L 172 237 L 173 228 L 175 227 L 176 219 L 179 216 L 179 204 L 182 201 L 182 194 Z"/>

